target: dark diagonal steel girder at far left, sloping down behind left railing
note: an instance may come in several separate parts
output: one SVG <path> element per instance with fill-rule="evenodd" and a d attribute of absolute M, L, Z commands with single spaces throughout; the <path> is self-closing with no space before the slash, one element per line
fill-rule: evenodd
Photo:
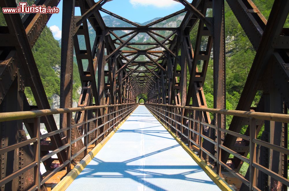
<path fill-rule="evenodd" d="M 50 3 L 53 3 L 53 2 L 50 2 Z M 54 3 L 56 3 L 56 5 L 57 5 L 58 1 L 54 1 Z M 15 1 L 2 1 L 1 7 L 2 8 L 16 7 L 16 3 L 15 3 Z M 27 17 L 28 17 L 28 15 L 27 15 Z M 32 41 L 30 43 L 30 41 L 29 41 L 29 40 L 34 40 L 37 38 L 36 36 L 39 35 L 40 31 L 42 31 L 42 29 L 44 28 L 44 26 L 45 26 L 44 24 L 46 24 L 47 20 L 49 19 L 49 16 L 44 16 L 42 18 L 38 14 L 36 14 L 32 18 L 32 21 L 29 24 L 29 27 L 27 29 L 30 29 L 31 25 L 33 25 L 33 22 L 42 23 L 42 29 L 39 29 L 39 33 L 37 35 L 34 34 L 32 29 L 31 29 L 32 32 L 29 33 L 29 35 L 31 35 L 31 38 L 27 38 L 27 36 L 28 36 L 27 30 L 25 30 L 25 27 L 22 23 L 23 21 L 21 20 L 19 14 L 5 14 L 4 18 L 6 20 L 7 29 L 9 30 L 9 32 L 11 34 L 15 34 L 17 36 L 17 38 L 15 38 L 15 40 L 16 40 L 15 48 L 16 48 L 17 57 L 18 57 L 17 60 L 22 61 L 22 63 L 21 64 L 19 63 L 19 65 L 14 66 L 14 67 L 21 68 L 19 78 L 25 79 L 25 80 L 20 79 L 19 85 L 20 85 L 21 89 L 19 89 L 19 91 L 24 91 L 25 85 L 27 87 L 31 87 L 31 90 L 32 90 L 32 93 L 34 95 L 38 109 L 50 108 L 49 102 L 48 102 L 48 99 L 46 97 L 44 87 L 42 85 L 40 75 L 39 75 L 35 60 L 34 60 L 34 57 L 32 55 L 32 50 L 30 48 L 31 46 L 33 46 L 33 44 L 35 44 L 35 42 Z M 26 18 L 25 21 L 27 21 L 27 23 L 29 23 L 30 19 L 31 19 L 30 17 Z M 35 25 L 37 25 L 37 23 L 35 23 Z M 26 67 L 21 67 L 20 65 L 25 65 Z M 25 81 L 25 82 L 23 83 L 23 81 Z M 22 102 L 23 102 L 23 100 L 22 100 Z M 22 106 L 22 108 L 23 108 L 23 106 Z M 56 126 L 55 120 L 54 120 L 52 115 L 46 117 L 45 126 L 46 126 L 48 132 L 51 132 L 53 130 L 57 130 L 57 126 Z M 63 145 L 59 135 L 55 135 L 55 136 L 51 137 L 51 141 L 57 147 L 60 147 Z M 59 153 L 58 157 L 59 157 L 60 162 L 63 162 L 66 159 L 65 152 L 63 151 L 63 152 Z"/>

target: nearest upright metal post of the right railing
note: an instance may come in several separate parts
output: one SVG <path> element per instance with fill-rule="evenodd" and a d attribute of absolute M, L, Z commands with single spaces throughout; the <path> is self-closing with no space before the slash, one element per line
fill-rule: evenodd
<path fill-rule="evenodd" d="M 256 169 L 253 165 L 253 163 L 256 162 L 256 146 L 255 143 L 253 143 L 253 139 L 256 139 L 256 119 L 250 118 L 250 141 L 249 141 L 249 147 L 250 147 L 250 164 L 249 164 L 249 190 L 253 190 L 253 188 L 256 186 Z"/>

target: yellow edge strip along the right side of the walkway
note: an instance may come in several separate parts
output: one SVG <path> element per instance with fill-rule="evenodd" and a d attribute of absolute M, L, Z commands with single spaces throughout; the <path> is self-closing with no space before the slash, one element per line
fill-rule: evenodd
<path fill-rule="evenodd" d="M 151 112 L 149 110 L 149 112 Z M 152 112 L 151 114 L 155 116 Z M 183 147 L 183 149 L 194 159 L 195 162 L 205 171 L 205 173 L 216 183 L 216 185 L 223 191 L 235 191 L 229 184 L 223 180 L 215 171 L 212 170 L 203 160 L 201 160 L 179 137 L 177 137 L 164 123 L 162 123 L 156 116 L 155 118 L 164 126 L 164 128 L 175 138 L 175 140 Z"/>

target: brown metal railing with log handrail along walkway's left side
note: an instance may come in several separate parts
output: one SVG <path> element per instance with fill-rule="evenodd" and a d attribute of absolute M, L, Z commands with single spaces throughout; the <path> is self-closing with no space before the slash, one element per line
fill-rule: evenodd
<path fill-rule="evenodd" d="M 33 148 L 33 162 L 20 168 L 19 170 L 13 172 L 10 175 L 0 179 L 0 187 L 5 185 L 6 183 L 12 181 L 14 178 L 18 177 L 19 175 L 31 170 L 34 168 L 34 185 L 29 190 L 40 190 L 40 187 L 45 184 L 47 180 L 49 180 L 53 175 L 57 172 L 61 171 L 66 167 L 67 173 L 71 171 L 71 161 L 79 156 L 80 153 L 85 153 L 84 156 L 87 155 L 87 149 L 90 145 L 95 143 L 95 146 L 98 143 L 98 139 L 103 137 L 105 133 L 111 132 L 121 121 L 123 121 L 127 116 L 130 115 L 138 104 L 118 104 L 118 105 L 104 105 L 104 106 L 87 106 L 87 107 L 78 107 L 78 108 L 63 108 L 63 109 L 46 109 L 46 110 L 37 110 L 37 111 L 23 111 L 23 112 L 9 112 L 9 113 L 0 113 L 0 122 L 5 121 L 14 121 L 14 120 L 22 120 L 22 119 L 34 119 L 34 137 L 27 139 L 25 141 L 15 143 L 9 145 L 7 147 L 3 147 L 0 149 L 0 155 L 3 153 L 8 153 L 13 151 L 14 149 L 20 149 L 21 147 L 25 147 L 27 145 L 31 145 Z M 102 110 L 102 112 L 99 112 Z M 84 122 L 77 123 L 72 125 L 72 113 L 73 112 L 84 112 L 86 119 Z M 95 113 L 95 117 L 92 119 L 87 119 L 87 112 Z M 67 113 L 67 127 L 55 130 L 52 132 L 48 132 L 46 134 L 40 134 L 40 118 L 42 116 L 53 115 L 53 114 L 62 114 Z M 99 115 L 102 113 L 102 115 Z M 102 124 L 98 123 L 98 120 L 102 120 Z M 88 125 L 91 122 L 95 122 L 95 127 L 92 129 L 88 129 Z M 71 130 L 75 127 L 84 126 L 84 132 L 78 138 L 73 139 L 71 136 Z M 11 127 L 13 128 L 13 127 Z M 101 132 L 99 131 L 101 129 Z M 40 141 L 48 138 L 53 137 L 57 134 L 62 134 L 66 132 L 67 136 L 62 139 L 63 145 L 55 150 L 45 154 L 44 156 L 40 155 L 41 150 L 41 143 Z M 96 137 L 88 142 L 88 136 L 93 132 L 96 133 Z M 71 149 L 72 145 L 77 141 L 84 139 L 84 147 L 80 149 L 77 153 L 72 155 Z M 66 152 L 66 160 L 62 162 L 57 168 L 53 171 L 49 172 L 45 177 L 42 177 L 40 173 L 40 163 L 44 162 L 45 160 L 51 158 L 51 156 L 60 153 L 61 151 Z"/>

